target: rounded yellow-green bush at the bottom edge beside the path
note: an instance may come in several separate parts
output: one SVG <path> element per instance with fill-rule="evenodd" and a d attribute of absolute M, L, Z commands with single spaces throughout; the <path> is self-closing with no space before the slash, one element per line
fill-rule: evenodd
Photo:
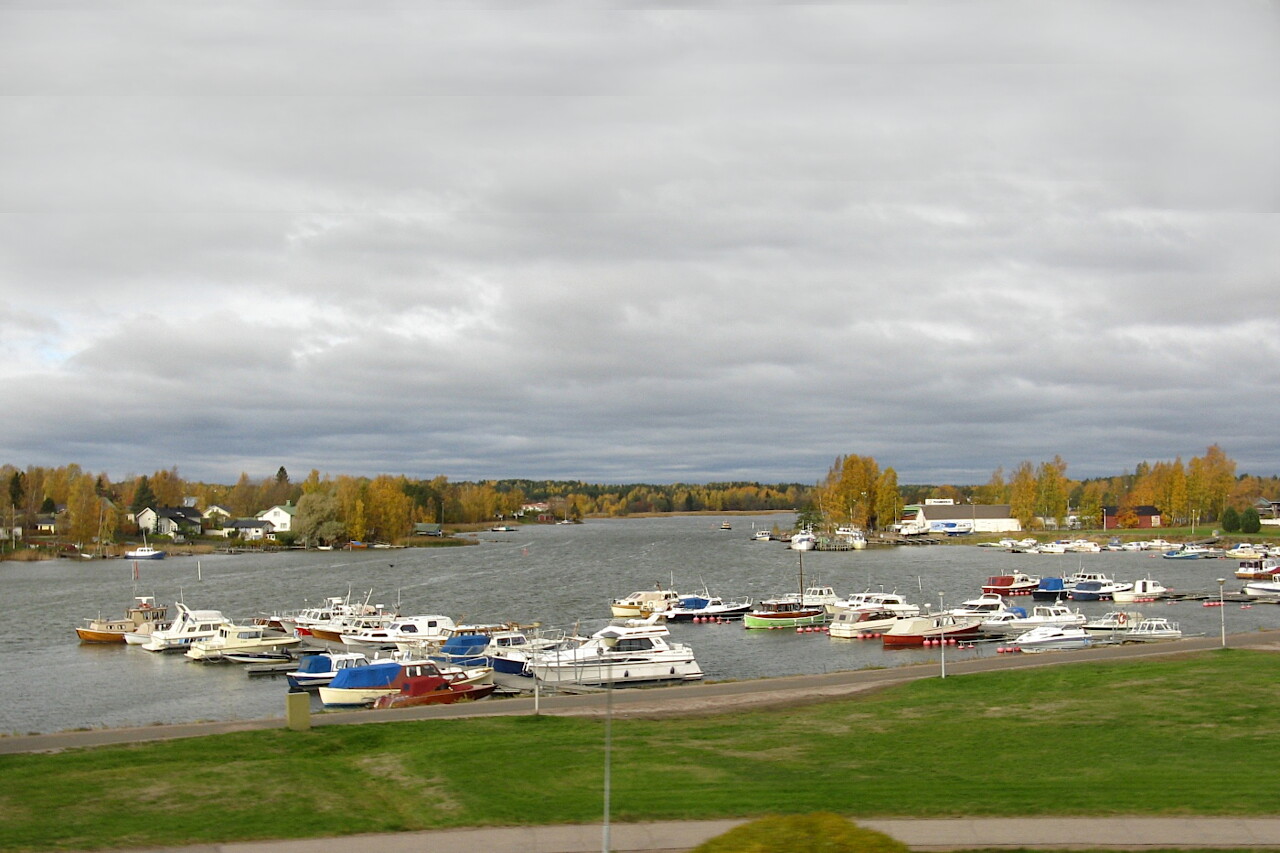
<path fill-rule="evenodd" d="M 840 815 L 774 815 L 699 844 L 692 853 L 906 853 L 899 840 Z"/>

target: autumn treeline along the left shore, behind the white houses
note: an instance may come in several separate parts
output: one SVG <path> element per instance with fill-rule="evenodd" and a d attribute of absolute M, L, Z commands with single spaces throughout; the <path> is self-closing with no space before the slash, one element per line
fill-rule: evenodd
<path fill-rule="evenodd" d="M 759 483 L 599 485 L 564 480 L 488 480 L 451 483 L 438 476 L 415 480 L 379 475 L 330 478 L 319 470 L 296 483 L 282 466 L 275 476 L 253 480 L 241 474 L 233 485 L 182 478 L 177 467 L 113 482 L 106 474 L 63 467 L 0 467 L 8 506 L 0 521 L 31 529 L 54 516 L 58 533 L 72 542 L 114 542 L 137 533 L 131 514 L 145 507 L 193 503 L 224 507 L 232 517 L 253 517 L 284 503 L 296 506 L 292 535 L 310 540 L 371 539 L 393 542 L 415 523 L 479 524 L 511 519 L 522 507 L 547 503 L 554 517 L 625 516 L 643 512 L 790 510 L 809 500 L 803 484 Z M 216 519 L 211 524 L 218 524 Z"/>

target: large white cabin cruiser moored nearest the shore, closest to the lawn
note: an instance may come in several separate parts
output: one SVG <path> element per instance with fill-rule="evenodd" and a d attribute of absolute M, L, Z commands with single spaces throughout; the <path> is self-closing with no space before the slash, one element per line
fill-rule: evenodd
<path fill-rule="evenodd" d="M 581 646 L 535 654 L 529 670 L 544 684 L 627 685 L 703 678 L 694 652 L 669 642 L 657 617 L 616 620 Z"/>

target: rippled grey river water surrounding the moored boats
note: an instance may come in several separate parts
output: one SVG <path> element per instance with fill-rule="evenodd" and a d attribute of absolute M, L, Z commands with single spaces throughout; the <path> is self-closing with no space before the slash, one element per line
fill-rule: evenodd
<path fill-rule="evenodd" d="M 179 597 L 195 608 L 221 610 L 236 620 L 319 603 L 328 596 L 372 590 L 372 602 L 404 613 L 444 613 L 462 621 L 541 622 L 593 631 L 608 622 L 608 601 L 654 584 L 694 592 L 705 584 L 724 598 L 767 598 L 794 592 L 800 555 L 777 542 L 754 542 L 754 526 L 787 526 L 788 516 L 590 520 L 582 525 L 522 526 L 483 533 L 466 548 L 365 552 L 284 552 L 180 557 L 133 564 L 0 562 L 10 603 L 0 625 L 0 733 L 145 726 L 201 720 L 283 717 L 283 678 L 248 678 L 233 665 L 201 665 L 182 654 L 136 647 L 82 646 L 74 626 L 100 612 L 118 616 L 134 594 L 159 602 Z M 1153 553 L 1037 556 L 970 546 L 808 552 L 805 581 L 841 596 L 863 589 L 905 593 L 947 607 L 977 597 L 988 575 L 1021 570 L 1060 575 L 1085 567 L 1123 580 L 1147 575 L 1178 590 L 1217 594 L 1243 581 L 1234 561 L 1160 560 Z M 1028 603 L 1025 599 L 1021 603 Z M 1075 606 L 1075 605 L 1073 605 Z M 1080 603 L 1088 615 L 1111 603 Z M 1187 634 L 1217 635 L 1276 628 L 1280 607 L 1222 611 L 1198 602 L 1129 605 L 1181 624 Z M 823 634 L 748 631 L 739 624 L 671 626 L 687 642 L 709 680 L 815 674 L 937 660 L 937 649 L 884 651 L 873 640 L 832 640 Z M 947 648 L 948 660 L 995 654 L 992 647 Z"/>

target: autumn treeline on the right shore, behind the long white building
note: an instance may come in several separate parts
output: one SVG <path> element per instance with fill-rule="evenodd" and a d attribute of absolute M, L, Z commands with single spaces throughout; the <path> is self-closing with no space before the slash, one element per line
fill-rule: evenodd
<path fill-rule="evenodd" d="M 982 485 L 899 485 L 893 469 L 879 471 L 876 460 L 837 457 L 814 493 L 813 519 L 828 524 L 887 526 L 906 503 L 951 498 L 959 505 L 1007 503 L 1024 529 L 1044 524 L 1065 526 L 1076 516 L 1084 526 L 1098 526 L 1102 507 L 1116 507 L 1120 526 L 1137 524 L 1134 510 L 1155 506 L 1164 526 L 1216 523 L 1251 510 L 1258 498 L 1280 494 L 1280 478 L 1236 474 L 1236 464 L 1211 444 L 1203 456 L 1183 462 L 1137 465 L 1133 473 L 1107 478 L 1071 479 L 1061 456 L 1042 462 L 1023 461 L 1006 474 L 996 469 Z"/>

